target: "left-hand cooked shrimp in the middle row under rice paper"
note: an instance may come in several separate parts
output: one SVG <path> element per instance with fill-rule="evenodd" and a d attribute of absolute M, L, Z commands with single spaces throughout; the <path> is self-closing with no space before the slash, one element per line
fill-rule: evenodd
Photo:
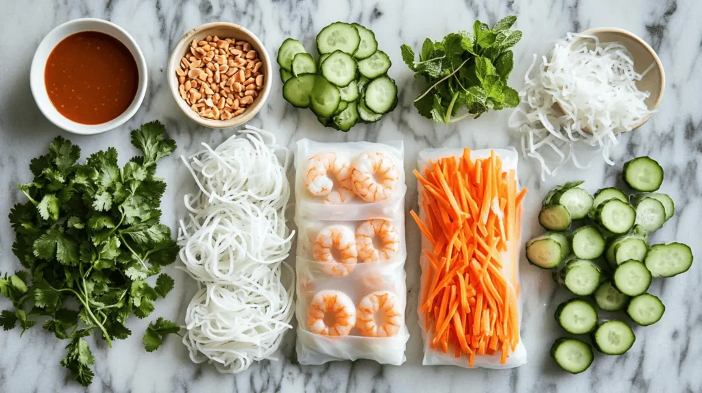
<path fill-rule="evenodd" d="M 331 225 L 319 231 L 312 247 L 314 261 L 322 262 L 326 274 L 343 277 L 356 266 L 358 252 L 353 230 Z"/>

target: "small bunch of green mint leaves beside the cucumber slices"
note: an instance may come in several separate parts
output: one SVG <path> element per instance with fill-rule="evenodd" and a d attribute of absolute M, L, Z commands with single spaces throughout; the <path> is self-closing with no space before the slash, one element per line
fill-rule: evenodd
<path fill-rule="evenodd" d="M 451 33 L 436 42 L 426 39 L 418 62 L 412 48 L 403 45 L 402 60 L 430 86 L 414 101 L 419 113 L 449 124 L 478 118 L 489 109 L 517 106 L 519 95 L 507 85 L 514 67 L 509 48 L 522 38 L 522 32 L 510 30 L 516 20 L 510 15 L 492 29 L 477 20 L 472 33 Z M 468 112 L 458 116 L 463 106 Z"/>

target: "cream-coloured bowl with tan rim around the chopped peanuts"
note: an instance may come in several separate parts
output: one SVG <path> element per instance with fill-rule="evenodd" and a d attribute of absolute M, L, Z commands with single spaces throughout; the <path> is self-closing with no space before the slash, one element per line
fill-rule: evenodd
<path fill-rule="evenodd" d="M 239 116 L 230 118 L 229 120 L 212 120 L 208 118 L 202 118 L 199 114 L 190 108 L 185 99 L 180 97 L 180 92 L 178 88 L 180 84 L 178 83 L 178 75 L 176 74 L 176 69 L 180 67 L 180 60 L 186 53 L 190 53 L 190 43 L 192 40 L 204 41 L 207 36 L 218 36 L 220 39 L 235 39 L 244 40 L 251 43 L 251 48 L 256 50 L 258 53 L 258 58 L 263 62 L 261 66 L 261 72 L 263 73 L 263 89 L 260 90 L 258 97 L 253 100 L 249 106 L 246 107 L 246 111 L 241 113 Z M 185 113 L 185 116 L 189 117 L 195 123 L 204 125 L 205 127 L 211 128 L 228 128 L 228 127 L 238 127 L 243 125 L 247 121 L 251 120 L 253 116 L 263 107 L 265 100 L 268 98 L 270 93 L 270 88 L 272 85 L 272 66 L 270 63 L 270 57 L 265 50 L 263 43 L 249 30 L 244 29 L 239 25 L 234 25 L 234 23 L 226 22 L 214 22 L 207 23 L 205 25 L 200 25 L 194 29 L 187 32 L 183 38 L 178 41 L 176 47 L 173 48 L 171 52 L 171 57 L 168 59 L 168 88 L 171 89 L 171 94 L 173 99 L 176 100 L 178 107 Z"/>

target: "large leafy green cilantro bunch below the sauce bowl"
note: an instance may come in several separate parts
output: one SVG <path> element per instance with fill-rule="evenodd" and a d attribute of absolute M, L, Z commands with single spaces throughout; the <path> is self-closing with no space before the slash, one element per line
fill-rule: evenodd
<path fill-rule="evenodd" d="M 19 324 L 24 333 L 44 320 L 44 329 L 70 340 L 61 365 L 85 386 L 95 359 L 84 338 L 98 329 L 111 347 L 131 334 L 129 315 L 147 317 L 173 289 L 166 274 L 155 286 L 146 280 L 178 253 L 171 230 L 159 223 L 166 183 L 154 177 L 176 142 L 155 121 L 133 130 L 131 142 L 143 156 L 119 167 L 114 148 L 78 164 L 79 147 L 56 137 L 48 154 L 29 164 L 34 181 L 19 186 L 27 202 L 10 212 L 13 251 L 26 270 L 0 277 L 0 293 L 15 308 L 0 313 L 0 325 Z M 177 333 L 172 322 L 168 327 Z"/>

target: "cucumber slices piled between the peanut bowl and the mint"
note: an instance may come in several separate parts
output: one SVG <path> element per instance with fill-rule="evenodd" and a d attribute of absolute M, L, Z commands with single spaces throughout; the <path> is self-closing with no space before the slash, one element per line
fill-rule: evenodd
<path fill-rule="evenodd" d="M 373 123 L 397 106 L 397 85 L 388 76 L 390 57 L 376 36 L 357 23 L 336 22 L 317 34 L 317 62 L 296 39 L 278 50 L 283 97 L 310 108 L 319 123 L 348 131 Z"/>

